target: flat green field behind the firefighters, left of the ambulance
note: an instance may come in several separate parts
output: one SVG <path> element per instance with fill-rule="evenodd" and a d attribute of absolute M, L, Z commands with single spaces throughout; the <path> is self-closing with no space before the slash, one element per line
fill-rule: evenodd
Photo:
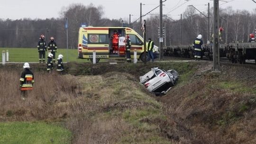
<path fill-rule="evenodd" d="M 0 48 L 0 51 L 9 51 L 9 62 L 38 62 L 38 52 L 37 48 Z M 47 61 L 46 52 L 46 61 Z M 79 62 L 79 63 L 87 63 L 86 59 L 78 59 L 77 49 L 58 49 L 56 54 L 56 59 L 59 54 L 63 54 L 63 61 L 67 62 Z M 67 56 L 68 55 L 68 56 Z M 0 62 L 2 62 L 2 54 L 0 54 Z"/>

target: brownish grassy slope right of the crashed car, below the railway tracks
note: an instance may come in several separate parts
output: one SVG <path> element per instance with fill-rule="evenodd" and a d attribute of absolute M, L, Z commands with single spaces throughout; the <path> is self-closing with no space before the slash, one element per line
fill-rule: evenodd
<path fill-rule="evenodd" d="M 207 69 L 160 99 L 170 117 L 166 134 L 182 144 L 256 144 L 255 70 L 222 67 L 216 76 Z"/>

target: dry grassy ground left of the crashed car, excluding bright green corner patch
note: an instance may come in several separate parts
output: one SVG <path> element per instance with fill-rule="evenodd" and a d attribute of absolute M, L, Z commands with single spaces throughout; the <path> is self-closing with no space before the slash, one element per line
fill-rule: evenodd
<path fill-rule="evenodd" d="M 73 144 L 170 143 L 159 126 L 151 123 L 165 119 L 162 105 L 141 91 L 132 75 L 72 76 L 37 71 L 34 90 L 23 101 L 18 90 L 20 72 L 19 68 L 0 70 L 4 90 L 0 91 L 0 121 L 61 122 L 73 132 Z"/>

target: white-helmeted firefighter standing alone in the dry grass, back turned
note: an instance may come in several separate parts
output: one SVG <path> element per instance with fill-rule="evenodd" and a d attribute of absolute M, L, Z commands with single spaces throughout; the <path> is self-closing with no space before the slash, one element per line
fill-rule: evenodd
<path fill-rule="evenodd" d="M 27 90 L 33 90 L 34 74 L 30 71 L 29 63 L 24 63 L 24 71 L 21 73 L 19 79 L 21 99 L 25 100 L 27 97 Z"/>

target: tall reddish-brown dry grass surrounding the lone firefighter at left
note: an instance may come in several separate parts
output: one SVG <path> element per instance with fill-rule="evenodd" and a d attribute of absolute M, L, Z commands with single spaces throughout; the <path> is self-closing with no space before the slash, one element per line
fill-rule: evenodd
<path fill-rule="evenodd" d="M 34 90 L 20 98 L 18 71 L 0 70 L 0 121 L 31 121 L 59 118 L 69 113 L 65 103 L 80 96 L 80 86 L 71 75 L 36 72 Z"/>

